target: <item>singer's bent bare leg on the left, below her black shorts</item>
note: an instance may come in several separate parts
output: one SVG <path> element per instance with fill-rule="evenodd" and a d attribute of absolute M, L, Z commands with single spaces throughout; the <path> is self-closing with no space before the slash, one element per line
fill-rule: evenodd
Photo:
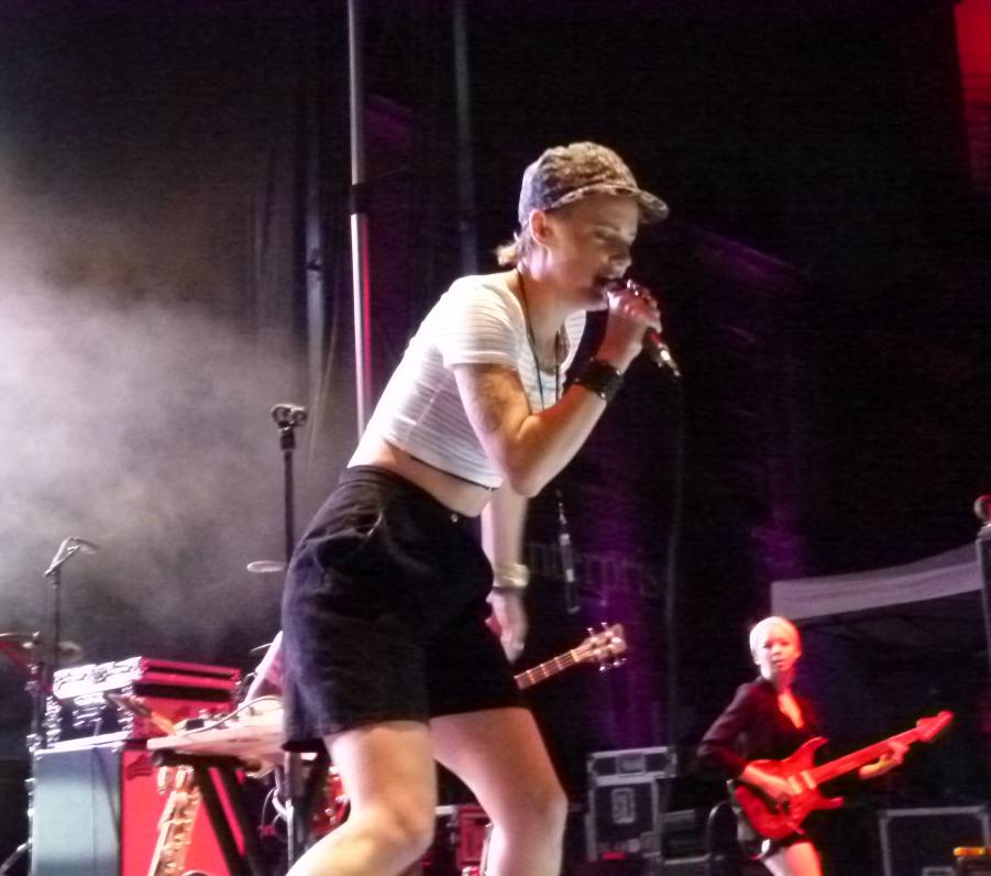
<path fill-rule="evenodd" d="M 289 876 L 396 876 L 433 839 L 437 770 L 430 730 L 415 721 L 387 721 L 326 742 L 351 814 L 300 857 Z"/>

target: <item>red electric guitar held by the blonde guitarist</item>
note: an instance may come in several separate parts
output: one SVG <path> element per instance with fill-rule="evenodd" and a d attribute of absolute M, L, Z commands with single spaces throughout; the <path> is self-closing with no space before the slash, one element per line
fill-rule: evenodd
<path fill-rule="evenodd" d="M 953 712 L 939 712 L 932 718 L 922 718 L 912 730 L 891 736 L 867 748 L 837 757 L 822 766 L 812 762 L 816 749 L 826 744 L 822 736 L 808 740 L 799 751 L 784 760 L 755 760 L 753 764 L 785 779 L 797 793 L 783 806 L 769 800 L 761 791 L 744 782 L 730 782 L 733 795 L 747 820 L 761 836 L 782 840 L 792 833 L 802 833 L 802 822 L 816 809 L 836 809 L 843 806 L 843 797 L 823 797 L 818 786 L 845 773 L 877 760 L 891 747 L 892 742 L 912 745 L 929 742 L 951 721 Z"/>

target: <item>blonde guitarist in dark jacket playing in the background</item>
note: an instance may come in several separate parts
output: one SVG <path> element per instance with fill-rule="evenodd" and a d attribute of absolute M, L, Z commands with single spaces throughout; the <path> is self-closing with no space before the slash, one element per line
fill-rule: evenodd
<path fill-rule="evenodd" d="M 790 801 L 804 800 L 815 789 L 804 784 L 805 773 L 786 776 L 768 762 L 785 760 L 819 732 L 812 704 L 792 690 L 802 656 L 799 631 L 784 617 L 766 617 L 750 631 L 750 653 L 760 678 L 740 686 L 703 737 L 698 758 L 786 813 Z M 898 738 L 889 741 L 858 775 L 869 779 L 888 773 L 902 762 L 906 747 Z M 768 840 L 738 812 L 739 839 L 745 847 L 761 846 L 761 861 L 774 876 L 822 876 L 815 820 L 815 813 L 801 823 L 785 820 L 785 830 L 778 831 L 784 835 Z"/>

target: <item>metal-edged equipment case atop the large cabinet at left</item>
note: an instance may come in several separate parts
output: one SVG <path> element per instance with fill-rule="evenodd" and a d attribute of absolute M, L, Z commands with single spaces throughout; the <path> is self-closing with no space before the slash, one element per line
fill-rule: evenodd
<path fill-rule="evenodd" d="M 159 736 L 164 731 L 109 694 L 137 697 L 147 709 L 176 722 L 231 711 L 240 681 L 238 669 L 153 657 L 59 669 L 45 713 L 48 743 L 107 733 Z"/>

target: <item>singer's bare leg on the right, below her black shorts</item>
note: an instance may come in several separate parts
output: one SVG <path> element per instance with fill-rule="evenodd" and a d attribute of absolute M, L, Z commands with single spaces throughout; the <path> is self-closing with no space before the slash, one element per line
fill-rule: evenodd
<path fill-rule="evenodd" d="M 568 801 L 530 712 L 445 715 L 430 727 L 437 759 L 492 819 L 487 876 L 558 876 Z"/>

